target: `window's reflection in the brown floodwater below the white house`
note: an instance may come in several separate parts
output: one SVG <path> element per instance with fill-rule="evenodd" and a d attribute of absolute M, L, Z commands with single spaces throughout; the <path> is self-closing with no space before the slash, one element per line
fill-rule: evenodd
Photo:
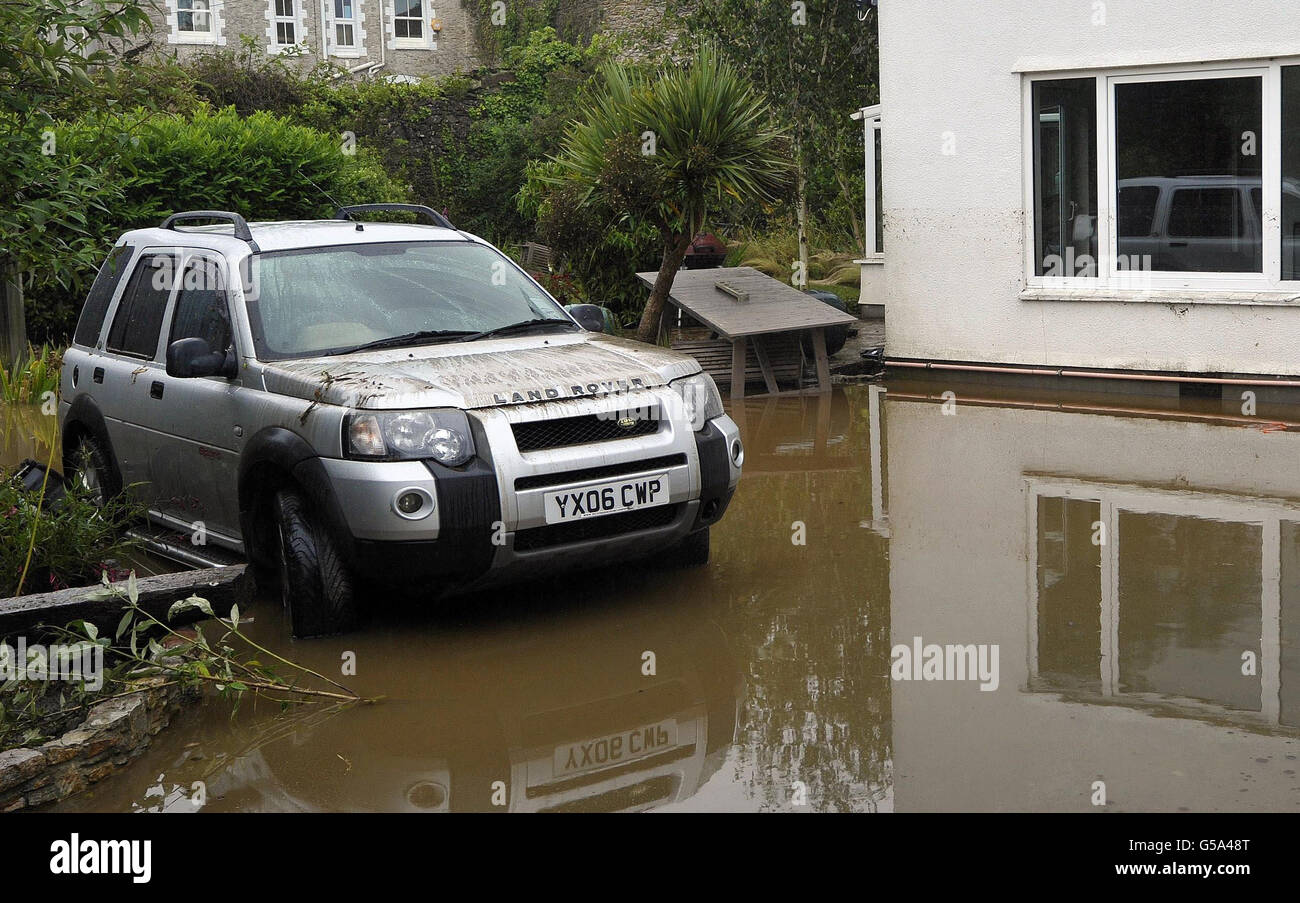
<path fill-rule="evenodd" d="M 1032 689 L 1300 726 L 1300 648 L 1282 644 L 1300 616 L 1300 503 L 1035 477 L 1028 491 Z"/>

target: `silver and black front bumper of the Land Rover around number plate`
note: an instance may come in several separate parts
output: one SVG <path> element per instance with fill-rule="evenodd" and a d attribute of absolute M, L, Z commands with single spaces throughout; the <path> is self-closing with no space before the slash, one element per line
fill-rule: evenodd
<path fill-rule="evenodd" d="M 359 573 L 478 586 L 653 555 L 720 520 L 740 481 L 740 431 L 727 416 L 698 433 L 663 421 L 650 435 L 538 452 L 517 450 L 516 411 L 471 420 L 478 455 L 462 468 L 322 460 Z M 546 524 L 547 492 L 645 473 L 667 474 L 667 505 Z M 394 511 L 408 489 L 434 499 L 420 520 Z"/>

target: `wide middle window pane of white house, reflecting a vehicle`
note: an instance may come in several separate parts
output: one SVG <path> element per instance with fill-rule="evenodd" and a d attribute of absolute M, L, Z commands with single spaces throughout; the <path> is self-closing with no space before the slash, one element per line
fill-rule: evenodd
<path fill-rule="evenodd" d="M 1243 203 L 1261 186 L 1262 91 L 1258 77 L 1115 84 L 1118 218 L 1141 197 L 1128 188 L 1171 194 L 1167 222 L 1158 221 L 1157 203 L 1153 229 L 1121 229 L 1122 260 L 1149 256 L 1156 270 L 1264 272 L 1260 210 Z"/>

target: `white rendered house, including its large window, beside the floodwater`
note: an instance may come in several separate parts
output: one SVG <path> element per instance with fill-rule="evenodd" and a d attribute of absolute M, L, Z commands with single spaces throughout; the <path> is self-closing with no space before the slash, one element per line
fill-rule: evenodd
<path fill-rule="evenodd" d="M 879 17 L 881 107 L 859 117 L 881 136 L 884 234 L 863 296 L 890 357 L 1300 374 L 1294 3 Z"/>

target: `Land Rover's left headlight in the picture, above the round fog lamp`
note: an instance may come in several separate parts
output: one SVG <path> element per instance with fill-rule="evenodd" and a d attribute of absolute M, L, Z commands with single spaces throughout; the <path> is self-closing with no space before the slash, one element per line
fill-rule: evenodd
<path fill-rule="evenodd" d="M 474 456 L 464 411 L 358 411 L 343 422 L 343 448 L 348 457 L 432 457 L 451 468 Z"/>

